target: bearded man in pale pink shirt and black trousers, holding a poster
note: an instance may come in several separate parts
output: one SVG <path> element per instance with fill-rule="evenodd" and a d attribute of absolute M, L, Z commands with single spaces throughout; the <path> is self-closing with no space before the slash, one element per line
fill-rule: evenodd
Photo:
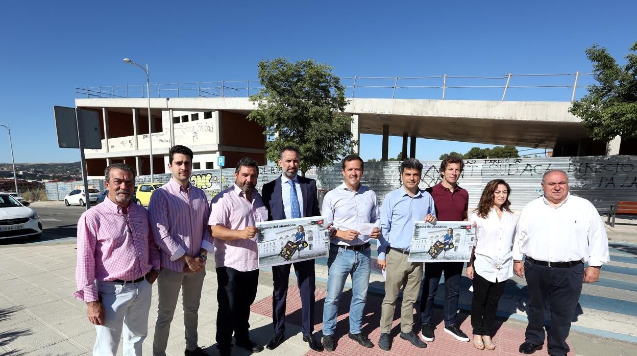
<path fill-rule="evenodd" d="M 254 188 L 259 165 L 242 158 L 234 171 L 234 184 L 212 198 L 210 230 L 215 238 L 217 269 L 217 348 L 230 355 L 233 332 L 236 345 L 249 352 L 261 352 L 263 346 L 250 339 L 250 305 L 257 296 L 259 256 L 257 222 L 268 220 L 268 210 Z"/>

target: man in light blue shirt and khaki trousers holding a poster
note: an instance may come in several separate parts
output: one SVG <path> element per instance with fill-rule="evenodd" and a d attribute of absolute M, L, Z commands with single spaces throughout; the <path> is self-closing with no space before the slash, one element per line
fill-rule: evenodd
<path fill-rule="evenodd" d="M 389 192 L 380 208 L 380 229 L 378 239 L 378 265 L 387 271 L 385 297 L 380 316 L 380 339 L 378 347 L 389 351 L 392 339 L 389 332 L 394 320 L 396 299 L 403 288 L 401 307 L 400 337 L 414 346 L 426 348 L 427 344 L 413 332 L 413 304 L 418 299 L 422 280 L 422 262 L 409 262 L 412 247 L 413 223 L 416 221 L 435 222 L 434 200 L 429 193 L 418 187 L 422 173 L 422 163 L 417 159 L 406 159 L 400 165 L 403 186 Z"/>

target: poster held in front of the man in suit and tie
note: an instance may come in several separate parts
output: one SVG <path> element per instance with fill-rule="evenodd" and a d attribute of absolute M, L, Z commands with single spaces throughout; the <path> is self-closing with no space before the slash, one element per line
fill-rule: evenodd
<path fill-rule="evenodd" d="M 258 222 L 259 268 L 327 255 L 329 232 L 324 217 Z"/>

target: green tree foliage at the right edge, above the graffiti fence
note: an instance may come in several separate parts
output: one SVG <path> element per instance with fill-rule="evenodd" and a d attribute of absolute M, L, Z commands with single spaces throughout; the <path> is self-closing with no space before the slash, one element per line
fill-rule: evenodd
<path fill-rule="evenodd" d="M 590 85 L 588 94 L 573 101 L 570 113 L 582 118 L 590 137 L 610 141 L 615 136 L 637 137 L 637 42 L 620 66 L 606 48 L 593 45 L 586 57 L 592 62 L 599 85 Z"/>

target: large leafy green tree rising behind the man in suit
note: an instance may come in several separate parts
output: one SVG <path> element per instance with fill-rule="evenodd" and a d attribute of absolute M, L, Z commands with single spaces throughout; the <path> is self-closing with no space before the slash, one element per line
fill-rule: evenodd
<path fill-rule="evenodd" d="M 343 115 L 347 100 L 340 78 L 327 64 L 308 59 L 288 62 L 277 58 L 259 62 L 263 88 L 250 101 L 258 104 L 249 120 L 264 127 L 269 160 L 281 148 L 294 145 L 301 152 L 301 174 L 312 166 L 325 167 L 352 152 L 352 117 Z"/>

